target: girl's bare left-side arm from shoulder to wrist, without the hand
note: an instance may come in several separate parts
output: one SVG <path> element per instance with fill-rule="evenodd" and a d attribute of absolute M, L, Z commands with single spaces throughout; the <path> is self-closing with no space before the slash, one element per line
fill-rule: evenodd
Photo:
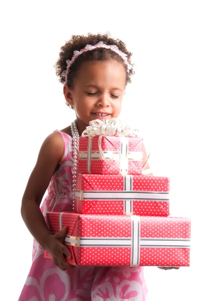
<path fill-rule="evenodd" d="M 43 248 L 46 247 L 45 237 L 50 235 L 50 231 L 40 210 L 40 203 L 62 157 L 63 149 L 64 141 L 59 133 L 52 133 L 44 140 L 22 198 L 22 218 Z"/>

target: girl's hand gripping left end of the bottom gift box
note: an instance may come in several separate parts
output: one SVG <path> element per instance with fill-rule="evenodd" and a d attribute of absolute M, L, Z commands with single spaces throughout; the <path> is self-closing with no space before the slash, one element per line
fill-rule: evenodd
<path fill-rule="evenodd" d="M 63 241 L 68 232 L 68 227 L 64 227 L 59 233 L 48 236 L 46 250 L 51 255 L 53 262 L 63 271 L 72 269 L 75 266 L 66 262 L 65 256 L 72 259 L 69 249 L 64 245 Z"/>

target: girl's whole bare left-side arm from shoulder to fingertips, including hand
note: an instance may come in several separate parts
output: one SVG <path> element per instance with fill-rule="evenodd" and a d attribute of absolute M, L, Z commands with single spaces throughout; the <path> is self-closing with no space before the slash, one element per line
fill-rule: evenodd
<path fill-rule="evenodd" d="M 21 214 L 33 237 L 42 248 L 50 253 L 54 263 L 65 270 L 69 268 L 69 265 L 64 260 L 63 253 L 69 257 L 71 254 L 62 243 L 62 238 L 68 229 L 65 228 L 60 233 L 53 235 L 40 210 L 43 195 L 62 158 L 63 151 L 64 141 L 59 133 L 54 132 L 44 140 L 22 198 Z"/>

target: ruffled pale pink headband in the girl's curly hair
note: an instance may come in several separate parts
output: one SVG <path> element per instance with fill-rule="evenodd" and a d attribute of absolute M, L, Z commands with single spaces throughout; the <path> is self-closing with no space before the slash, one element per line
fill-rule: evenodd
<path fill-rule="evenodd" d="M 65 81 L 63 82 L 63 85 L 65 85 L 67 83 L 67 74 L 69 73 L 69 68 L 71 66 L 71 64 L 75 61 L 75 59 L 81 55 L 83 52 L 86 51 L 90 51 L 96 48 L 106 48 L 106 49 L 111 49 L 112 51 L 116 52 L 117 54 L 119 54 L 119 56 L 121 56 L 121 58 L 123 59 L 125 65 L 127 65 L 127 72 L 129 73 L 129 70 L 132 69 L 132 66 L 128 63 L 128 59 L 127 59 L 127 54 L 122 52 L 116 45 L 106 45 L 104 44 L 104 42 L 98 42 L 96 45 L 89 45 L 87 44 L 83 49 L 81 49 L 80 51 L 75 50 L 73 52 L 73 56 L 70 60 L 67 60 L 67 69 L 65 71 L 62 72 L 61 76 L 65 77 Z"/>

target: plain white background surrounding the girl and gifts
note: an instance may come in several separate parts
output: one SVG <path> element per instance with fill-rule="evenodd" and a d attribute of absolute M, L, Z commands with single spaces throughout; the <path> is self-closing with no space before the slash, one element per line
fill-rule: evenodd
<path fill-rule="evenodd" d="M 198 299 L 197 3 L 35 0 L 1 5 L 2 300 L 18 299 L 31 266 L 32 236 L 20 207 L 39 148 L 49 133 L 74 119 L 53 68 L 60 47 L 72 34 L 107 31 L 125 41 L 137 65 L 121 117 L 146 137 L 154 174 L 170 177 L 171 214 L 192 218 L 191 266 L 146 267 L 150 300 Z"/>

